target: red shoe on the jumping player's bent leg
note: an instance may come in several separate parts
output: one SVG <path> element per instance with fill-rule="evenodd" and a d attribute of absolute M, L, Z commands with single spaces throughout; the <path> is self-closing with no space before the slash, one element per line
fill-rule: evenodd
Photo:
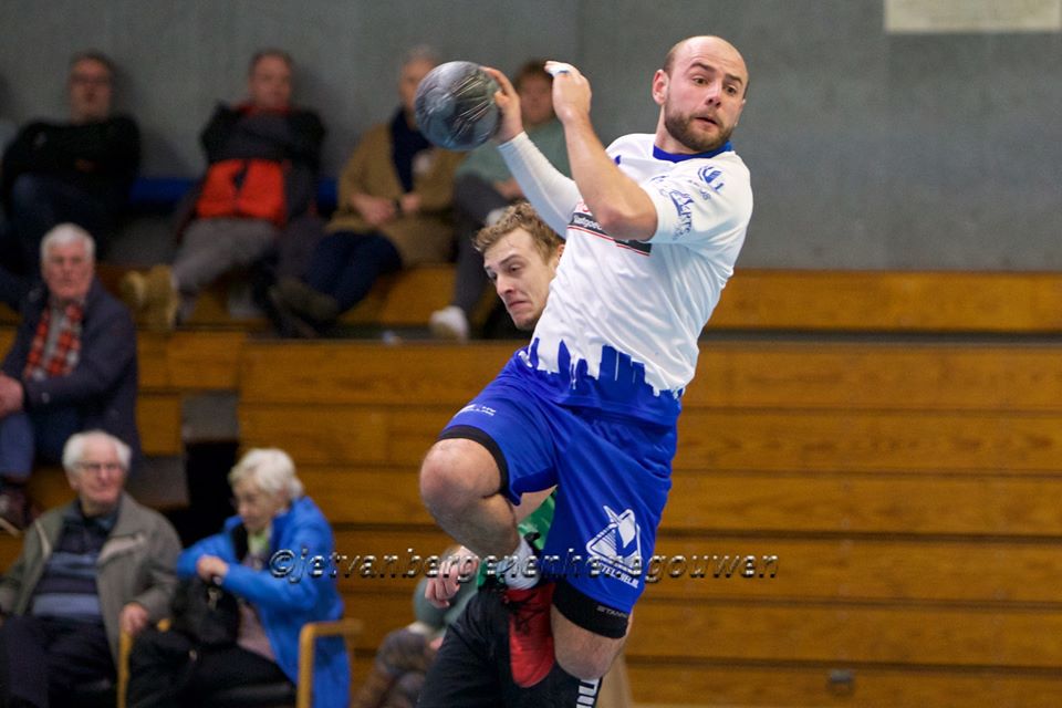
<path fill-rule="evenodd" d="M 521 688 L 534 686 L 553 668 L 553 629 L 550 607 L 553 583 L 528 590 L 507 589 L 503 595 L 509 607 L 509 667 L 512 680 Z"/>

